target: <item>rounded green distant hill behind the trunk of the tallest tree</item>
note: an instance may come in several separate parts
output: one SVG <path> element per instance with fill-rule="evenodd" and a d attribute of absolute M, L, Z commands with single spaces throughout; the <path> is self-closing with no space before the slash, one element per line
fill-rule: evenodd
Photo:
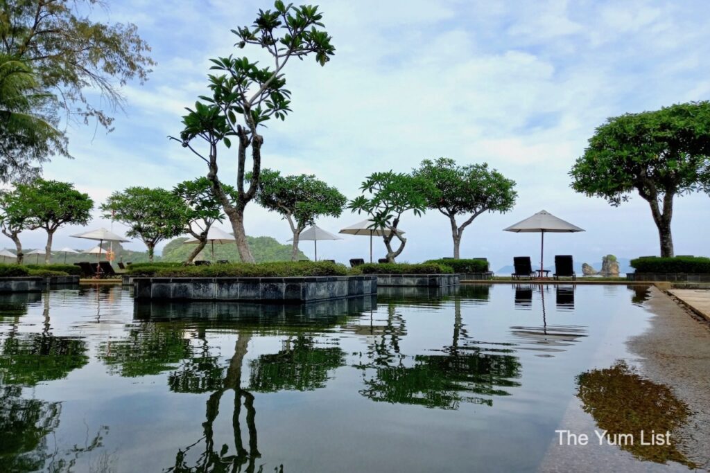
<path fill-rule="evenodd" d="M 268 261 L 290 261 L 291 260 L 291 245 L 281 245 L 275 238 L 271 237 L 246 237 L 249 240 L 251 254 L 256 262 Z M 163 255 L 160 261 L 185 261 L 190 256 L 190 252 L 195 250 L 195 245 L 184 245 L 183 242 L 187 238 L 175 238 L 170 240 L 163 247 Z M 307 257 L 302 252 L 298 253 L 299 259 L 306 260 Z M 204 250 L 197 256 L 197 259 L 212 260 L 212 252 L 209 243 L 204 247 Z M 229 260 L 240 261 L 239 252 L 236 250 L 234 243 L 225 243 L 224 245 L 214 245 L 214 260 Z"/>

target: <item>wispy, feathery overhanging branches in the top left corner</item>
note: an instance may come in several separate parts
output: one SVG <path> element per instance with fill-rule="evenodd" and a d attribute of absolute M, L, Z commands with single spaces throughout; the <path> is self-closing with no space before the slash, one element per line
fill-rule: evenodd
<path fill-rule="evenodd" d="M 113 118 L 89 96 L 110 110 L 121 108 L 119 87 L 132 79 L 141 84 L 151 72 L 148 45 L 131 23 L 91 21 L 87 11 L 99 0 L 9 0 L 0 16 L 0 53 L 23 60 L 38 72 L 45 90 L 56 91 L 70 120 L 89 118 L 107 128 Z"/>

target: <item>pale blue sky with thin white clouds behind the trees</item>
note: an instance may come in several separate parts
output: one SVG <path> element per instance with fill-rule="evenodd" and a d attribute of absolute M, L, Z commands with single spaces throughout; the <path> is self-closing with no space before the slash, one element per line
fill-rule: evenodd
<path fill-rule="evenodd" d="M 485 214 L 464 233 L 462 257 L 488 257 L 496 269 L 513 256 L 538 261 L 540 235 L 502 228 L 545 209 L 586 229 L 550 235 L 545 260 L 578 262 L 658 254 L 648 204 L 634 196 L 619 208 L 575 194 L 569 169 L 606 118 L 710 97 L 710 4 L 700 1 L 333 1 L 320 2 L 336 55 L 325 67 L 295 61 L 285 71 L 293 113 L 263 130 L 263 165 L 285 174 L 313 173 L 349 198 L 366 174 L 408 172 L 421 160 L 451 157 L 488 162 L 517 182 L 510 213 Z M 70 128 L 75 160 L 56 159 L 45 177 L 74 182 L 100 203 L 129 186 L 173 187 L 206 173 L 197 157 L 168 135 L 180 133 L 185 106 L 206 91 L 208 59 L 254 56 L 234 50 L 229 30 L 251 24 L 261 1 L 109 1 L 96 18 L 130 21 L 158 62 L 144 86 L 124 87 L 125 114 L 113 133 Z M 234 155 L 220 177 L 234 183 Z M 708 255 L 710 199 L 677 199 L 673 233 L 681 255 Z M 97 219 L 91 227 L 110 226 Z M 346 211 L 324 218 L 337 232 L 364 218 Z M 405 215 L 408 243 L 400 260 L 451 255 L 447 218 Z M 223 228 L 228 228 L 226 225 Z M 124 230 L 114 223 L 114 230 Z M 249 235 L 290 238 L 288 223 L 256 204 L 246 211 Z M 55 246 L 88 247 L 63 228 Z M 43 246 L 40 231 L 23 233 Z M 367 238 L 324 242 L 319 256 L 366 257 Z M 6 239 L 5 245 L 11 247 Z M 129 247 L 142 250 L 140 242 Z M 312 246 L 302 244 L 312 255 Z M 376 242 L 376 257 L 383 244 Z"/>

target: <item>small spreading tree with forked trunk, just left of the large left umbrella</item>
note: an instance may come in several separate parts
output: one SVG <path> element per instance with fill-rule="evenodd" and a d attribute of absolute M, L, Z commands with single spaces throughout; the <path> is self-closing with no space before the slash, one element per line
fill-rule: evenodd
<path fill-rule="evenodd" d="M 31 228 L 43 228 L 47 232 L 45 264 L 49 264 L 55 231 L 67 223 L 89 223 L 94 201 L 89 194 L 74 189 L 70 182 L 35 179 L 29 184 L 18 184 L 16 188 L 29 208 Z"/>

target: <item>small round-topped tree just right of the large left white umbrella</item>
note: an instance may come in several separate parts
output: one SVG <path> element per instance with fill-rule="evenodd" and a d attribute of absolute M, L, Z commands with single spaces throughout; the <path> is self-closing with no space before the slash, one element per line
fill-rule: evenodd
<path fill-rule="evenodd" d="M 155 245 L 185 233 L 187 227 L 185 204 L 166 189 L 129 187 L 111 194 L 101 209 L 105 218 L 114 218 L 128 226 L 126 235 L 143 240 L 151 261 Z"/>

